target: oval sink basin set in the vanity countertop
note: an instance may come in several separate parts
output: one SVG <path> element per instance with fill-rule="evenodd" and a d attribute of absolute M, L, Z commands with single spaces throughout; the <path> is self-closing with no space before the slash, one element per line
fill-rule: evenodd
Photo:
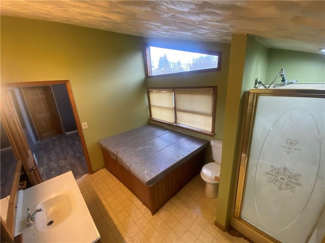
<path fill-rule="evenodd" d="M 76 207 L 76 200 L 71 191 L 52 194 L 42 200 L 36 208 L 43 208 L 36 217 L 36 227 L 45 231 L 67 219 Z"/>

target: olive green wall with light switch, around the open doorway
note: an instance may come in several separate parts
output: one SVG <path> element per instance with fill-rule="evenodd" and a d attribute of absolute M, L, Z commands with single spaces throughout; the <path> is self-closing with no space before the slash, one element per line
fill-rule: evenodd
<path fill-rule="evenodd" d="M 1 83 L 69 79 L 92 169 L 100 139 L 147 123 L 142 38 L 73 25 L 1 17 Z"/>

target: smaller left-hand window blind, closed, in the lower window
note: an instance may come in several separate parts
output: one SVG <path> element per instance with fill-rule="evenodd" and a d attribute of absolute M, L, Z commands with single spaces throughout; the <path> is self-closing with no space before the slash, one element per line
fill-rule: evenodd
<path fill-rule="evenodd" d="M 149 90 L 151 118 L 175 123 L 174 92 L 172 89 Z"/>

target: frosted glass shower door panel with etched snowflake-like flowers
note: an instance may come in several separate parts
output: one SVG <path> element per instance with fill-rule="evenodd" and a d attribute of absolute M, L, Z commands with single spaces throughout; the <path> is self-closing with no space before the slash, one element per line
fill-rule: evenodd
<path fill-rule="evenodd" d="M 306 242 L 325 203 L 323 98 L 258 96 L 241 218 Z"/>

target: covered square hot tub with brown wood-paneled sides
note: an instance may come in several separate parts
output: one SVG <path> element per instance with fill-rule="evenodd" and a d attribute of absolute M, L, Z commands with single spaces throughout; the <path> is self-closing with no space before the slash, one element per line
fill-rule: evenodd
<path fill-rule="evenodd" d="M 100 145 L 105 168 L 154 215 L 200 173 L 208 141 L 146 125 Z"/>

